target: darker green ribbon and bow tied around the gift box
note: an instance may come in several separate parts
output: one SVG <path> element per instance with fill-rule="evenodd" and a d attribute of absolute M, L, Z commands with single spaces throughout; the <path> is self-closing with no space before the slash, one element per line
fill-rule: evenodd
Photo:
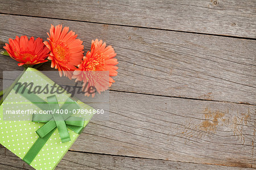
<path fill-rule="evenodd" d="M 18 84 L 14 86 L 14 90 L 17 91 Z M 27 88 L 19 88 L 18 93 L 24 96 L 27 100 L 31 101 L 31 103 L 38 106 L 43 111 L 52 111 L 53 114 L 33 114 L 32 121 L 33 122 L 42 122 L 46 123 L 41 128 L 36 130 L 36 134 L 39 135 L 38 140 L 34 143 L 34 145 L 30 148 L 27 154 L 24 156 L 23 160 L 27 164 L 31 164 L 31 162 L 35 159 L 36 155 L 38 155 L 39 151 L 46 144 L 48 139 L 51 137 L 52 133 L 56 130 L 59 131 L 61 142 L 69 142 L 71 141 L 68 133 L 68 129 L 73 130 L 77 134 L 81 134 L 84 130 L 84 118 L 82 117 L 73 117 L 73 109 L 79 109 L 79 105 L 71 99 L 70 97 L 65 101 L 65 103 L 59 108 L 59 104 L 57 103 L 57 99 L 55 95 L 48 96 L 47 102 L 38 97 L 37 95 L 29 92 Z M 67 114 L 58 114 L 57 110 L 68 110 Z"/>

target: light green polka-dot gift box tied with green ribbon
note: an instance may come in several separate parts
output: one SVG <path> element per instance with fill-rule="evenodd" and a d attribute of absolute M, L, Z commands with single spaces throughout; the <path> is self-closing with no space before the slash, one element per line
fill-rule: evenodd
<path fill-rule="evenodd" d="M 18 83 L 26 82 L 33 82 L 34 88 L 55 84 L 46 75 L 32 68 L 28 68 L 18 78 Z M 80 100 L 72 99 L 68 92 L 27 95 L 27 89 L 22 93 L 16 87 L 9 91 L 0 106 L 0 143 L 35 169 L 54 169 L 92 118 L 93 108 Z M 20 109 L 39 113 L 45 108 L 52 111 L 67 109 L 69 113 L 46 116 L 18 114 L 21 119 L 29 119 L 26 121 L 10 120 L 6 114 L 7 110 L 15 112 Z M 72 109 L 86 110 L 88 114 L 79 117 L 78 114 L 73 114 Z M 40 119 L 42 116 L 46 117 L 45 120 Z"/>

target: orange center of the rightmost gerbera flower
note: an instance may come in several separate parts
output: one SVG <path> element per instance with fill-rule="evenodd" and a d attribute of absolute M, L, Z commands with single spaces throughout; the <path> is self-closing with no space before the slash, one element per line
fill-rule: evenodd
<path fill-rule="evenodd" d="M 86 63 L 85 71 L 104 71 L 105 70 L 105 59 L 102 56 L 103 53 L 96 53 L 93 58 Z"/>

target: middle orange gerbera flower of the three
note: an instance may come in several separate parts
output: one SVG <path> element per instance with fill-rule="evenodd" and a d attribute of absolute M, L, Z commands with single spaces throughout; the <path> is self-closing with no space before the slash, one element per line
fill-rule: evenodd
<path fill-rule="evenodd" d="M 80 39 L 76 39 L 75 32 L 69 31 L 69 27 L 62 25 L 51 26 L 47 33 L 49 38 L 44 44 L 51 50 L 48 59 L 52 61 L 51 67 L 59 70 L 60 76 L 68 76 L 71 79 L 71 71 L 75 70 L 84 57 L 84 45 Z"/>

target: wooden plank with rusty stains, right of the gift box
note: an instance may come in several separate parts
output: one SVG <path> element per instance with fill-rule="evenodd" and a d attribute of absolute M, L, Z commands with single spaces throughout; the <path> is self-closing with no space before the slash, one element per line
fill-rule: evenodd
<path fill-rule="evenodd" d="M 255 167 L 256 107 L 110 91 L 109 121 L 91 121 L 71 150 Z"/>

